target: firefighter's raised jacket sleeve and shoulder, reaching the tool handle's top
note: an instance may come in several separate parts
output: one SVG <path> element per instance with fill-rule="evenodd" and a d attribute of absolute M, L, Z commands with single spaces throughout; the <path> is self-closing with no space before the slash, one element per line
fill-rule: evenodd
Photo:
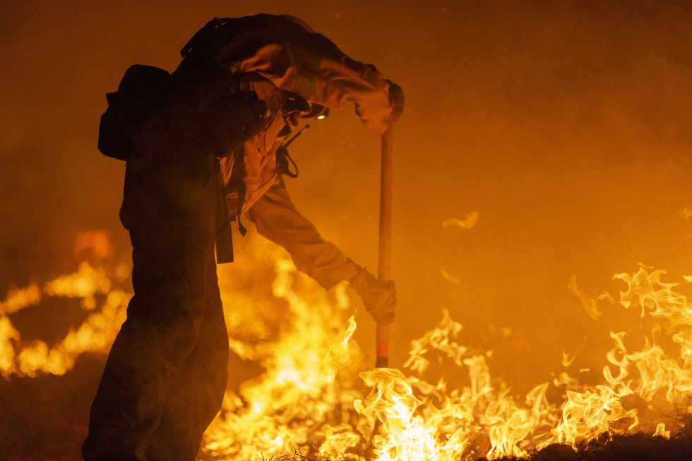
<path fill-rule="evenodd" d="M 282 90 L 330 109 L 354 102 L 375 134 L 390 125 L 388 80 L 374 66 L 346 56 L 333 42 L 292 16 L 259 14 L 217 27 L 215 58 L 237 72 L 254 72 Z"/>

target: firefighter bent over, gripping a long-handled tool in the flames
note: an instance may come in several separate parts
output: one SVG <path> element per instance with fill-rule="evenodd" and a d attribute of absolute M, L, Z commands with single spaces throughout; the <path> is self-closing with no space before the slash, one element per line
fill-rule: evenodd
<path fill-rule="evenodd" d="M 384 133 L 402 112 L 401 88 L 291 16 L 212 20 L 181 54 L 170 78 L 142 66 L 126 73 L 119 93 L 126 80 L 147 82 L 157 97 L 130 104 L 146 116 L 125 111 L 121 119 L 137 126 L 129 142 L 114 141 L 118 155 L 107 153 L 104 126 L 122 124 L 102 117 L 100 150 L 127 162 L 120 217 L 135 294 L 92 405 L 86 461 L 195 459 L 227 383 L 215 265 L 232 261 L 230 221 L 241 234 L 253 222 L 323 287 L 347 280 L 376 322 L 394 319 L 393 283 L 299 214 L 277 153 L 298 119 L 348 102 L 369 131 Z M 114 95 L 109 110 L 117 104 L 126 105 Z"/>

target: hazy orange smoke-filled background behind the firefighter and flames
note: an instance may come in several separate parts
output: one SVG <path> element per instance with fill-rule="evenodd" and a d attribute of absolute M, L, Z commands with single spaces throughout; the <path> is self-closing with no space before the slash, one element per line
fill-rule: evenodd
<path fill-rule="evenodd" d="M 571 275 L 596 295 L 638 262 L 692 274 L 687 1 L 196 4 L 0 2 L 0 297 L 73 270 L 80 230 L 110 229 L 128 257 L 117 220 L 124 164 L 96 150 L 105 92 L 134 63 L 172 71 L 210 18 L 260 12 L 302 18 L 405 90 L 394 366 L 445 308 L 468 342 L 499 351 L 491 366 L 518 388 L 559 369 L 563 351 L 598 373 L 602 356 L 580 352 L 621 327 L 585 314 Z M 352 107 L 313 128 L 292 148 L 301 169 L 288 180 L 292 198 L 376 270 L 379 139 Z M 472 211 L 472 229 L 443 228 Z M 371 322 L 359 320 L 370 350 Z"/>

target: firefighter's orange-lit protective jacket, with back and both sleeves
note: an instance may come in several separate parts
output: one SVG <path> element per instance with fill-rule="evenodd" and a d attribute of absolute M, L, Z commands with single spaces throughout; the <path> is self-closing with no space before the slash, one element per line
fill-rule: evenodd
<path fill-rule="evenodd" d="M 292 95 L 330 109 L 354 102 L 366 128 L 382 134 L 393 114 L 390 82 L 291 16 L 215 19 L 182 54 L 212 57 L 239 76 L 241 90 L 256 92 L 268 107 L 267 128 L 247 140 L 241 152 L 221 159 L 229 214 L 249 217 L 260 234 L 287 249 L 297 268 L 323 287 L 352 280 L 362 268 L 296 210 L 276 153 L 290 134 L 286 102 Z"/>

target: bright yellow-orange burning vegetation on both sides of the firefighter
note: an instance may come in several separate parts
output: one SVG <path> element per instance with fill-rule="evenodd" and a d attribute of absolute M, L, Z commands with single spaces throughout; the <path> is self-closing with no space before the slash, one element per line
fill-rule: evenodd
<path fill-rule="evenodd" d="M 668 455 L 689 448 L 690 276 L 676 280 L 642 265 L 614 275 L 619 292 L 595 298 L 573 278 L 568 289 L 584 315 L 632 311 L 638 328 L 610 333 L 599 383 L 580 383 L 569 373 L 574 357 L 564 354 L 562 371 L 516 395 L 494 377 L 501 371 L 491 370 L 491 350 L 465 345 L 463 325 L 448 311 L 411 342 L 401 369 L 373 369 L 352 339 L 357 325 L 345 285 L 325 293 L 282 251 L 258 241 L 251 249 L 267 273 L 221 266 L 220 286 L 229 345 L 260 371 L 227 390 L 205 436 L 204 460 L 599 460 L 632 444 L 641 453 L 643 446 L 672 447 Z M 107 352 L 124 320 L 128 273 L 126 265 L 87 258 L 74 273 L 8 292 L 0 302 L 4 378 L 63 375 L 80 354 Z M 273 277 L 271 294 L 253 283 L 258 277 Z M 83 323 L 52 344 L 23 340 L 13 316 L 59 298 L 78 300 Z"/>

